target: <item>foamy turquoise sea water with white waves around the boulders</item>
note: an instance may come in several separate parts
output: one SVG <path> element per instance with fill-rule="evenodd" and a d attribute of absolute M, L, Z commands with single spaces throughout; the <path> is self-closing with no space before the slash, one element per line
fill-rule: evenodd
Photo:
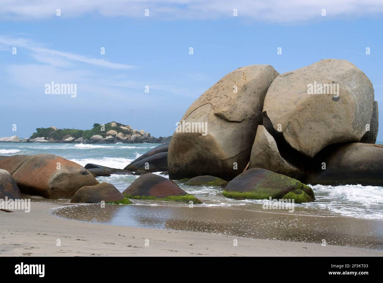
<path fill-rule="evenodd" d="M 66 159 L 85 166 L 87 163 L 95 163 L 112 168 L 124 168 L 156 144 L 39 144 L 39 143 L 0 143 L 0 155 L 31 155 L 38 153 L 50 153 L 62 156 Z M 156 173 L 159 174 L 160 172 Z M 162 175 L 165 178 L 169 176 Z M 100 182 L 112 183 L 124 191 L 138 176 L 111 175 L 110 177 L 98 177 Z M 379 186 L 322 186 L 309 184 L 316 196 L 316 201 L 308 204 L 295 204 L 294 214 L 311 216 L 345 216 L 358 219 L 383 219 L 383 187 Z M 201 207 L 226 207 L 230 209 L 245 209 L 248 211 L 263 211 L 262 205 L 268 203 L 265 200 L 234 200 L 222 195 L 222 188 L 211 186 L 187 186 L 179 183 L 179 186 L 190 194 L 200 199 Z M 169 203 L 163 201 L 136 201 L 139 206 L 186 206 L 186 204 Z M 273 210 L 273 213 L 289 213 L 288 210 Z"/>

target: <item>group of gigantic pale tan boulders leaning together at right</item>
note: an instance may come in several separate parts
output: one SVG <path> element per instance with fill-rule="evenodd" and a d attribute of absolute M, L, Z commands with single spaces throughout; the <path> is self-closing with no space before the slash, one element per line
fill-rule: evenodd
<path fill-rule="evenodd" d="M 238 68 L 191 104 L 180 121 L 187 122 L 207 131 L 174 132 L 170 179 L 236 180 L 226 188 L 247 196 L 260 178 L 247 173 L 252 168 L 303 183 L 383 185 L 373 86 L 346 60 L 324 59 L 283 74 L 270 65 Z M 246 182 L 251 190 L 240 185 Z"/>

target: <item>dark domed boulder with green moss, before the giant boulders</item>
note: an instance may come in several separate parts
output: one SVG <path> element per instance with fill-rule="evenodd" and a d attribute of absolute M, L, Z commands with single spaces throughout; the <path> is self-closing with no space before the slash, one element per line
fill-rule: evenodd
<path fill-rule="evenodd" d="M 234 199 L 282 199 L 285 194 L 295 190 L 302 190 L 315 199 L 313 189 L 296 179 L 266 169 L 252 168 L 232 179 L 223 195 Z"/>

